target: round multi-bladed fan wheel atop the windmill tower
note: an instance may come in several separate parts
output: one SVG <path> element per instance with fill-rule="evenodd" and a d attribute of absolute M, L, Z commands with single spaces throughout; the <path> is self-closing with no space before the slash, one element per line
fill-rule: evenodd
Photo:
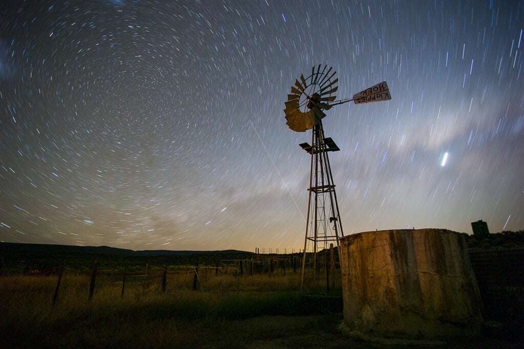
<path fill-rule="evenodd" d="M 296 80 L 291 86 L 291 93 L 285 103 L 286 125 L 296 132 L 305 132 L 315 125 L 326 115 L 323 109 L 329 109 L 329 102 L 336 99 L 334 93 L 339 89 L 335 78 L 336 71 L 333 67 L 322 64 L 313 66 L 311 75 L 304 78 L 300 74 L 300 81 Z"/>

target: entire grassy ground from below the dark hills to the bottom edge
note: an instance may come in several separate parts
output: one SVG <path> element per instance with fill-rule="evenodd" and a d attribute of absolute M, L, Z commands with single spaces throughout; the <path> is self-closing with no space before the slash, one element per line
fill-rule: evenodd
<path fill-rule="evenodd" d="M 148 264 L 145 258 L 100 258 L 91 300 L 93 258 L 69 259 L 53 307 L 58 275 L 27 274 L 33 265 L 56 271 L 62 259 L 42 263 L 27 256 L 5 258 L 0 347 L 369 347 L 337 330 L 342 321 L 338 272 L 335 287 L 326 292 L 324 271 L 314 279 L 309 269 L 301 292 L 300 269 L 293 271 L 292 263 L 286 271 L 283 263 L 259 263 L 250 275 L 246 265 L 242 269 L 235 262 L 220 262 L 216 268 L 218 258 L 202 259 L 195 279 L 198 262 L 187 258 Z M 457 339 L 443 347 L 521 344 L 511 338 L 515 334 L 508 336 L 505 325 L 496 323 L 491 329 L 500 332 L 496 336 Z"/>

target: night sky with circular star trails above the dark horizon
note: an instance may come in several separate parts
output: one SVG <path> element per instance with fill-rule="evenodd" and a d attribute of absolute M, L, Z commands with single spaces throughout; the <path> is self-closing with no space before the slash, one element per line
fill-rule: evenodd
<path fill-rule="evenodd" d="M 392 96 L 326 111 L 345 234 L 520 230 L 523 30 L 523 1 L 3 1 L 0 240 L 298 250 L 316 64 Z"/>

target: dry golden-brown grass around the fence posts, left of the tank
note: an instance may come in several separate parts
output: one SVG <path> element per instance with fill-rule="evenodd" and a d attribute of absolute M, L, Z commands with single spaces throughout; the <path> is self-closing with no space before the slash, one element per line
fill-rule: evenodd
<path fill-rule="evenodd" d="M 207 277 L 193 291 L 193 274 L 170 273 L 166 294 L 161 275 L 99 275 L 88 301 L 89 275 L 0 277 L 0 346 L 243 347 L 301 331 L 334 329 L 340 316 L 326 318 L 297 289 L 299 275 Z M 309 280 L 309 284 L 312 280 Z M 321 280 L 312 289 L 322 289 Z M 6 335 L 7 334 L 7 335 Z"/>

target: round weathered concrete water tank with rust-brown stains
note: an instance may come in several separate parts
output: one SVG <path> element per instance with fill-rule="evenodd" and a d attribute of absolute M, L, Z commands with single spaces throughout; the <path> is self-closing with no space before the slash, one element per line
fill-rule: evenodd
<path fill-rule="evenodd" d="M 482 300 L 459 233 L 383 230 L 341 240 L 344 322 L 355 334 L 475 334 Z"/>

